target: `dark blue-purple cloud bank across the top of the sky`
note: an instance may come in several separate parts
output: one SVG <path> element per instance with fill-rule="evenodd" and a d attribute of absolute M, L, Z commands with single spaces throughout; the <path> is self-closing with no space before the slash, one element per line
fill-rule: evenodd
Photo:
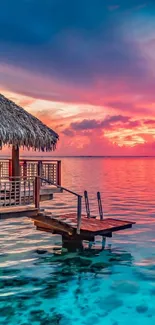
<path fill-rule="evenodd" d="M 141 0 L 2 1 L 0 59 L 85 85 L 96 75 L 144 76 L 143 58 L 121 34 L 129 12 L 143 4 Z"/>

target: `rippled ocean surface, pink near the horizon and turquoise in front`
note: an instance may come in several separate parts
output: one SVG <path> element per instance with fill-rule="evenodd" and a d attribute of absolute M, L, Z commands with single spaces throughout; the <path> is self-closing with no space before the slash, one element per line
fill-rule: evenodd
<path fill-rule="evenodd" d="M 88 190 L 92 214 L 100 191 L 105 217 L 136 225 L 105 250 L 98 237 L 67 253 L 27 218 L 0 221 L 0 324 L 155 324 L 155 158 L 63 158 L 62 184 Z M 60 193 L 44 206 L 59 214 L 76 200 Z"/>

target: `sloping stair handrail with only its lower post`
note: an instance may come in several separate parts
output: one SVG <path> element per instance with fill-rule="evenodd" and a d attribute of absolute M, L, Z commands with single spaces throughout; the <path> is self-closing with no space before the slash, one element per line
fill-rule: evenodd
<path fill-rule="evenodd" d="M 66 187 L 60 186 L 58 184 L 54 184 L 51 181 L 49 181 L 49 180 L 47 180 L 45 178 L 39 177 L 39 176 L 36 177 L 36 184 L 37 184 L 37 178 L 39 178 L 43 182 L 46 182 L 46 183 L 51 184 L 53 186 L 56 186 L 60 190 L 68 192 L 70 194 L 73 194 L 73 195 L 75 195 L 77 197 L 77 234 L 79 235 L 80 234 L 80 228 L 81 228 L 82 195 L 80 195 L 78 193 L 75 193 L 75 192 L 69 190 Z"/>

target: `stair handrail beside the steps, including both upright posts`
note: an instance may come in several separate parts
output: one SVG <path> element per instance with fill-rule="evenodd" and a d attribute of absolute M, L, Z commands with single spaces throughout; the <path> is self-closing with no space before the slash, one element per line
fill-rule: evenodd
<path fill-rule="evenodd" d="M 60 186 L 59 184 L 53 184 L 51 181 L 49 181 L 45 178 L 36 176 L 35 177 L 35 207 L 37 209 L 40 208 L 40 206 L 39 206 L 40 205 L 40 186 L 41 186 L 42 182 L 44 182 L 45 184 L 54 185 L 57 188 L 59 188 L 60 190 L 62 190 L 63 192 L 68 192 L 68 193 L 77 197 L 77 234 L 80 234 L 81 213 L 82 213 L 82 196 L 63 187 L 63 186 Z"/>

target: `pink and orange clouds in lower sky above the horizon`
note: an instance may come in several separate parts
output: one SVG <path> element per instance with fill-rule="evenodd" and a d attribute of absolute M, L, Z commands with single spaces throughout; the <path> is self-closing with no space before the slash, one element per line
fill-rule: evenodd
<path fill-rule="evenodd" d="M 55 154 L 130 155 L 136 154 L 134 147 L 139 154 L 153 152 L 155 96 L 150 84 L 143 93 L 130 80 L 96 77 L 83 88 L 10 66 L 0 65 L 0 72 L 2 92 L 60 134 Z"/>

